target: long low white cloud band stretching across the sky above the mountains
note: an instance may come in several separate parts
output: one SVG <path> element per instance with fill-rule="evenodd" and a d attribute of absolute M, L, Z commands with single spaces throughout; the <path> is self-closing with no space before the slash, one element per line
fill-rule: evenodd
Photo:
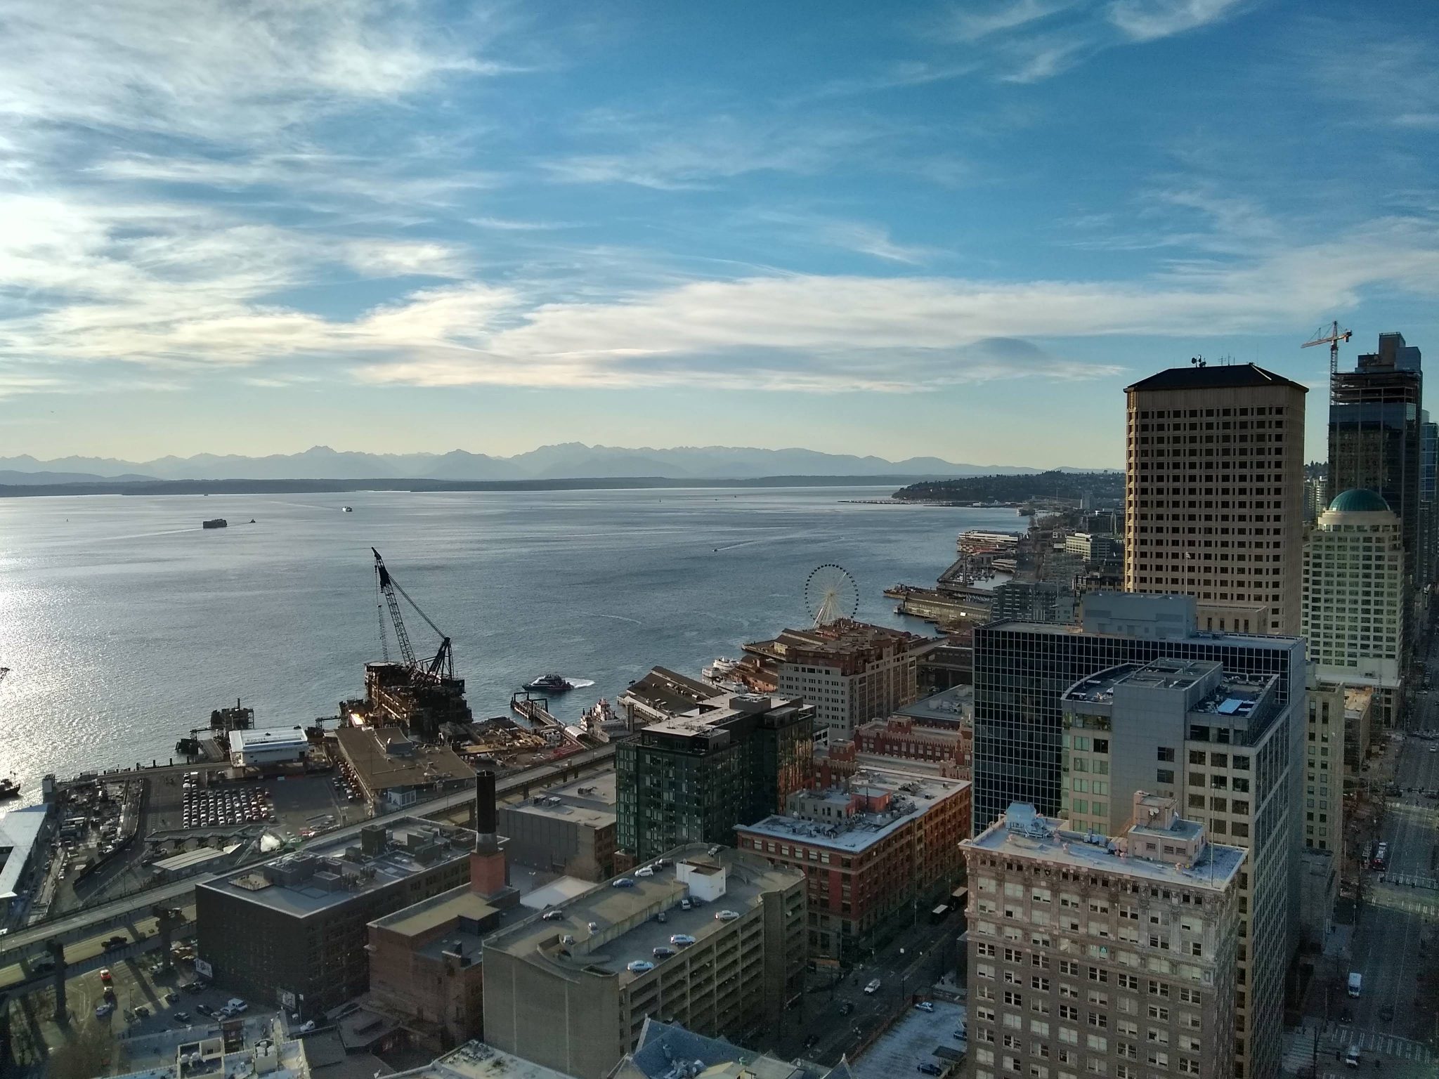
<path fill-rule="evenodd" d="M 81 240 L 59 235 L 50 242 L 102 252 L 88 220 L 89 230 L 76 230 Z M 32 236 L 30 246 L 42 239 Z M 1380 219 L 1333 240 L 1274 245 L 1249 259 L 1174 262 L 1130 282 L 764 275 L 548 299 L 459 281 L 350 321 L 260 295 L 276 269 L 249 262 L 276 243 L 283 237 L 226 235 L 209 263 L 184 258 L 191 273 L 210 265 L 213 276 L 170 296 L 163 295 L 164 245 L 157 258 L 135 260 L 160 281 L 137 281 L 134 269 L 111 279 L 101 258 L 66 285 L 88 291 L 86 299 L 9 319 L 0 350 L 55 364 L 242 365 L 245 377 L 278 381 L 324 364 L 331 373 L 353 368 L 363 381 L 416 386 L 908 391 L 1111 374 L 1108 365 L 1065 357 L 1063 342 L 1076 337 L 1262 332 L 1351 308 L 1373 288 L 1439 298 L 1439 223 L 1432 219 Z M 138 295 L 119 293 L 137 283 Z M 236 292 L 250 298 L 237 302 Z"/>

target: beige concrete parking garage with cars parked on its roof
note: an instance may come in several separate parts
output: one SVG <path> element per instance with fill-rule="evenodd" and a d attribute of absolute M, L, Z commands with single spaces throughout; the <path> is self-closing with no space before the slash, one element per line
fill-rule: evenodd
<path fill-rule="evenodd" d="M 648 1017 L 753 1040 L 803 991 L 804 961 L 803 873 L 679 847 L 488 937 L 485 1042 L 602 1079 Z"/>

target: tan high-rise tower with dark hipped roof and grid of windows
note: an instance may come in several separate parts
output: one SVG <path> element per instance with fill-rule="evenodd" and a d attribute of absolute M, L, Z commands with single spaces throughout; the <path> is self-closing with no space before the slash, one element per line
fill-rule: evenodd
<path fill-rule="evenodd" d="M 1298 634 L 1308 391 L 1233 364 L 1124 393 L 1125 591 L 1193 596 L 1200 629 Z"/>

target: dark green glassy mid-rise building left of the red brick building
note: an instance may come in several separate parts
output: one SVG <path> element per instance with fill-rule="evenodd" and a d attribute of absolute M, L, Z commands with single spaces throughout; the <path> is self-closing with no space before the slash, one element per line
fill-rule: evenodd
<path fill-rule="evenodd" d="M 614 747 L 620 850 L 645 862 L 684 843 L 734 846 L 810 781 L 814 709 L 737 693 L 725 708 L 643 728 Z"/>

